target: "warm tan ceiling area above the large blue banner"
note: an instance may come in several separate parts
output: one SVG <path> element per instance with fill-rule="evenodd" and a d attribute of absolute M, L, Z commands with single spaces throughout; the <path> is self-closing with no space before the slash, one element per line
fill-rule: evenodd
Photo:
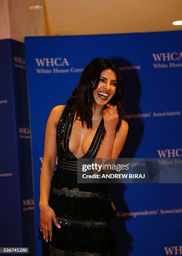
<path fill-rule="evenodd" d="M 182 0 L 44 0 L 47 35 L 182 30 Z"/>

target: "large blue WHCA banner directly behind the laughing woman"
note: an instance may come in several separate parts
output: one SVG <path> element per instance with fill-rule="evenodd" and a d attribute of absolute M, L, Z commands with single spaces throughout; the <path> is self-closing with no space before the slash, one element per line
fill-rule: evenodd
<path fill-rule="evenodd" d="M 81 72 L 96 57 L 114 61 L 125 85 L 129 132 L 120 157 L 182 157 L 182 31 L 92 36 L 26 37 L 36 236 L 45 129 L 56 105 L 66 105 Z M 55 166 L 56 169 L 56 166 Z M 112 184 L 118 238 L 115 255 L 182 254 L 181 184 Z M 37 255 L 41 242 L 36 240 Z"/>

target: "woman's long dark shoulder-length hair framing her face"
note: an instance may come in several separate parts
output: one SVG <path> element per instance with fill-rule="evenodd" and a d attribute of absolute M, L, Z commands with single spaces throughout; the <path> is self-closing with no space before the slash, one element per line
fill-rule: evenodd
<path fill-rule="evenodd" d="M 94 111 L 96 109 L 94 90 L 97 88 L 100 81 L 100 75 L 105 69 L 113 70 L 117 76 L 116 92 L 109 101 L 109 103 L 112 105 L 116 105 L 118 109 L 119 123 L 116 126 L 117 132 L 119 131 L 122 119 L 125 119 L 124 84 L 119 68 L 116 66 L 116 64 L 114 64 L 113 61 L 106 58 L 93 59 L 83 69 L 77 87 L 73 90 L 71 97 L 67 100 L 67 105 L 73 105 L 74 111 L 76 111 L 76 119 L 79 116 L 82 127 L 84 127 L 83 124 L 85 122 L 87 128 L 92 128 L 92 106 L 94 106 Z M 103 109 L 105 108 L 107 108 L 106 105 L 103 107 Z"/>

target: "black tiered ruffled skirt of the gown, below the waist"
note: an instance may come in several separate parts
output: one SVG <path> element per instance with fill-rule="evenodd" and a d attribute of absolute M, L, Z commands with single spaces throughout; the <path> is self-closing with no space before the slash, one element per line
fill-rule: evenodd
<path fill-rule="evenodd" d="M 52 223 L 52 241 L 42 240 L 42 256 L 111 256 L 116 236 L 110 220 L 116 218 L 107 184 L 78 184 L 77 172 L 58 168 L 51 181 L 49 205 L 61 228 Z"/>

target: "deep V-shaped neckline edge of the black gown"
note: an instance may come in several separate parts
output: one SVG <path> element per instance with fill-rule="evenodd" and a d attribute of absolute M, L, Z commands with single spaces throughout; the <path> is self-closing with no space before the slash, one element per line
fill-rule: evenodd
<path fill-rule="evenodd" d="M 94 134 L 94 137 L 93 137 L 93 139 L 92 139 L 92 141 L 91 141 L 91 144 L 90 144 L 88 150 L 86 151 L 86 154 L 84 154 L 83 156 L 81 156 L 81 157 L 79 157 L 79 158 L 76 158 L 76 156 L 73 155 L 73 153 L 70 151 L 70 148 L 69 148 L 69 141 L 70 141 L 70 137 L 71 137 L 71 131 L 72 131 L 72 128 L 73 128 L 73 121 L 74 121 L 74 119 L 75 119 L 75 111 L 72 111 L 71 122 L 70 122 L 70 125 L 69 125 L 70 128 L 69 128 L 68 137 L 67 137 L 67 148 L 68 148 L 69 154 L 71 154 L 71 156 L 72 156 L 73 158 L 75 158 L 76 160 L 78 160 L 78 159 L 81 159 L 81 158 L 85 158 L 85 157 L 87 156 L 87 154 L 89 153 L 89 151 L 91 150 L 91 147 L 93 146 L 94 139 L 95 139 L 95 137 L 97 136 L 97 133 L 99 132 L 99 129 L 100 129 L 100 127 L 101 127 L 103 117 L 101 118 L 101 121 L 100 121 L 100 123 L 99 123 L 99 125 L 98 125 L 98 127 L 97 127 L 96 133 Z"/>

